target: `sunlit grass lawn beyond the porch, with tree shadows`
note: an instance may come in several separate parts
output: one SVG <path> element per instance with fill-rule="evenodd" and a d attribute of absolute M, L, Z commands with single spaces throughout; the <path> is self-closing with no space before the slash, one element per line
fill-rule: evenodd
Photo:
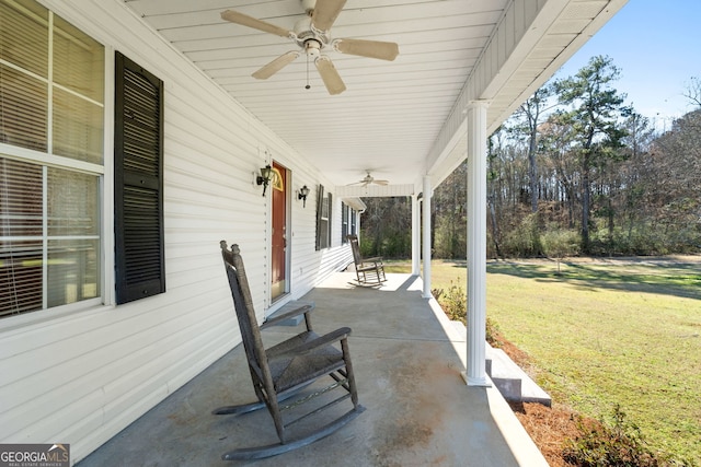
<path fill-rule="evenodd" d="M 620 405 L 653 448 L 701 465 L 701 258 L 490 262 L 487 316 L 540 369 L 556 402 Z M 433 288 L 464 288 L 432 264 Z"/>

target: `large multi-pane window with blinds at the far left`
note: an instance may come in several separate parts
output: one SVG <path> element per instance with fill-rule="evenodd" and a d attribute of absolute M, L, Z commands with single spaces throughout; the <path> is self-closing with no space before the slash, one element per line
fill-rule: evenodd
<path fill-rule="evenodd" d="M 0 0 L 0 24 L 7 317 L 101 294 L 104 48 L 32 0 Z"/>

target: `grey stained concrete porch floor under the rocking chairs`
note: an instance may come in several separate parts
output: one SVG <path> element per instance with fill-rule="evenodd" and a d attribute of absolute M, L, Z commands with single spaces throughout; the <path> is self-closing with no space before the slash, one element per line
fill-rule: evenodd
<path fill-rule="evenodd" d="M 301 299 L 315 303 L 318 334 L 353 329 L 350 354 L 366 411 L 347 425 L 276 457 L 221 460 L 227 451 L 277 441 L 265 410 L 211 415 L 254 399 L 238 346 L 78 465 L 548 466 L 495 387 L 464 384 L 464 337 L 434 300 L 422 297 L 421 278 L 389 275 L 379 289 L 355 287 L 354 279 L 336 273 Z M 269 328 L 264 339 L 280 340 L 295 329 Z"/>

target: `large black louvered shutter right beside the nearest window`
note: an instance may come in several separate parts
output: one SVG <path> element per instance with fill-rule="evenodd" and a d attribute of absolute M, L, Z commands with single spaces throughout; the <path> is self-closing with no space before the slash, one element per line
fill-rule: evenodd
<path fill-rule="evenodd" d="M 165 292 L 163 82 L 115 60 L 115 276 L 117 304 Z"/>

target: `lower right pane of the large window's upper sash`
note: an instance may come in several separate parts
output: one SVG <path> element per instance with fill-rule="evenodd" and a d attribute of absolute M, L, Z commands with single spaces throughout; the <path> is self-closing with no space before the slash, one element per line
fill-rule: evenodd
<path fill-rule="evenodd" d="M 102 164 L 103 108 L 54 89 L 54 153 Z"/>

